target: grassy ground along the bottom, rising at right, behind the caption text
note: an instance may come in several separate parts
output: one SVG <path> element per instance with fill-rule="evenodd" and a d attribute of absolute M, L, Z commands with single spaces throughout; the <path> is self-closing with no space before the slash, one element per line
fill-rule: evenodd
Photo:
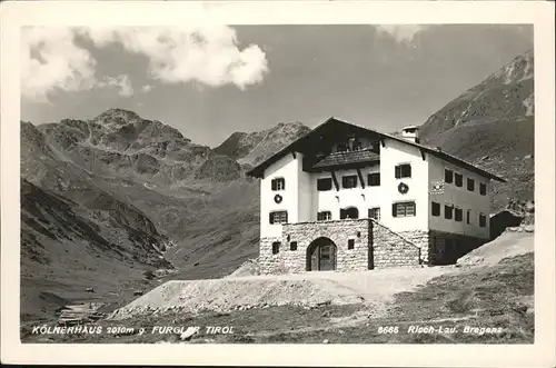
<path fill-rule="evenodd" d="M 100 326 L 146 328 L 153 326 L 232 326 L 232 335 L 209 336 L 202 330 L 191 342 L 494 342 L 534 341 L 534 257 L 507 258 L 495 266 L 460 269 L 433 279 L 423 287 L 398 294 L 389 317 L 369 318 L 371 310 L 359 305 L 320 306 L 314 309 L 271 307 L 227 314 L 167 314 L 136 317 L 125 321 L 102 321 Z M 441 316 L 441 317 L 440 317 Z M 398 332 L 380 334 L 379 327 L 398 327 Z M 409 326 L 457 331 L 409 334 Z M 464 334 L 465 326 L 502 328 L 499 334 Z M 22 330 L 23 341 L 42 342 L 178 342 L 176 334 L 112 334 L 40 336 Z M 106 330 L 105 330 L 106 331 Z"/>

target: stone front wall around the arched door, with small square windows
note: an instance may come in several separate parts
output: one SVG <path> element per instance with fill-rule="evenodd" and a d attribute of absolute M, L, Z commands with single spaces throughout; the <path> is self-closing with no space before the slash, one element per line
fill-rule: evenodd
<path fill-rule="evenodd" d="M 307 271 L 307 248 L 318 238 L 328 238 L 336 245 L 336 270 L 369 269 L 369 248 L 373 239 L 369 219 L 299 222 L 282 225 L 280 238 L 260 240 L 260 269 L 262 273 L 299 273 Z M 348 240 L 354 249 L 348 249 Z M 280 242 L 279 252 L 272 255 L 272 243 Z M 297 249 L 291 250 L 291 242 Z"/>

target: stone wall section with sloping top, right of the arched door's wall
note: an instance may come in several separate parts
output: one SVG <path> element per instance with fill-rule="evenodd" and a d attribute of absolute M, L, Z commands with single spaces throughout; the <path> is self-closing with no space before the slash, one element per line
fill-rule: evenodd
<path fill-rule="evenodd" d="M 374 222 L 373 238 L 374 268 L 419 266 L 419 247 L 399 233 Z"/>

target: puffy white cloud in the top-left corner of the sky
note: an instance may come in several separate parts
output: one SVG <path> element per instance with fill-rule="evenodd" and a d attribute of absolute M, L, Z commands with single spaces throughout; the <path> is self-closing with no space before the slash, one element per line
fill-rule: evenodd
<path fill-rule="evenodd" d="M 47 101 L 54 90 L 77 91 L 95 86 L 96 60 L 77 47 L 69 28 L 23 28 L 21 34 L 21 92 Z"/>

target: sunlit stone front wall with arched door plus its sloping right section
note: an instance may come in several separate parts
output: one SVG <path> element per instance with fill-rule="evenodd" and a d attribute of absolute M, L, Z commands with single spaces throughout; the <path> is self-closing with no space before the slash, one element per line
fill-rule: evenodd
<path fill-rule="evenodd" d="M 286 223 L 280 237 L 260 239 L 260 271 L 264 275 L 306 272 L 308 248 L 318 238 L 328 238 L 336 245 L 336 270 L 340 272 L 418 266 L 423 259 L 428 260 L 429 237 L 427 232 L 425 237 L 423 233 L 410 236 L 419 245 L 370 219 Z M 354 241 L 353 249 L 348 247 L 349 240 Z M 276 255 L 272 253 L 275 242 L 279 243 Z M 292 242 L 297 243 L 295 249 Z"/>

